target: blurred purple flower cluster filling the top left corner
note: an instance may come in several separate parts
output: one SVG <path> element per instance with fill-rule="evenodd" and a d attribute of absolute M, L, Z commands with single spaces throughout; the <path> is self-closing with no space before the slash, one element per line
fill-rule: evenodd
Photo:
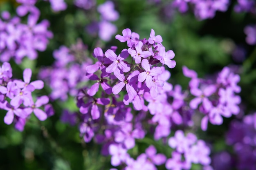
<path fill-rule="evenodd" d="M 43 20 L 37 24 L 40 11 L 34 5 L 36 0 L 17 0 L 21 5 L 16 9 L 20 17 L 27 17 L 27 24 L 21 18 L 11 18 L 9 12 L 2 12 L 0 19 L 0 61 L 8 62 L 11 58 L 20 63 L 27 56 L 30 60 L 37 58 L 37 51 L 45 51 L 49 38 L 53 34 L 48 31 L 49 22 Z"/>

